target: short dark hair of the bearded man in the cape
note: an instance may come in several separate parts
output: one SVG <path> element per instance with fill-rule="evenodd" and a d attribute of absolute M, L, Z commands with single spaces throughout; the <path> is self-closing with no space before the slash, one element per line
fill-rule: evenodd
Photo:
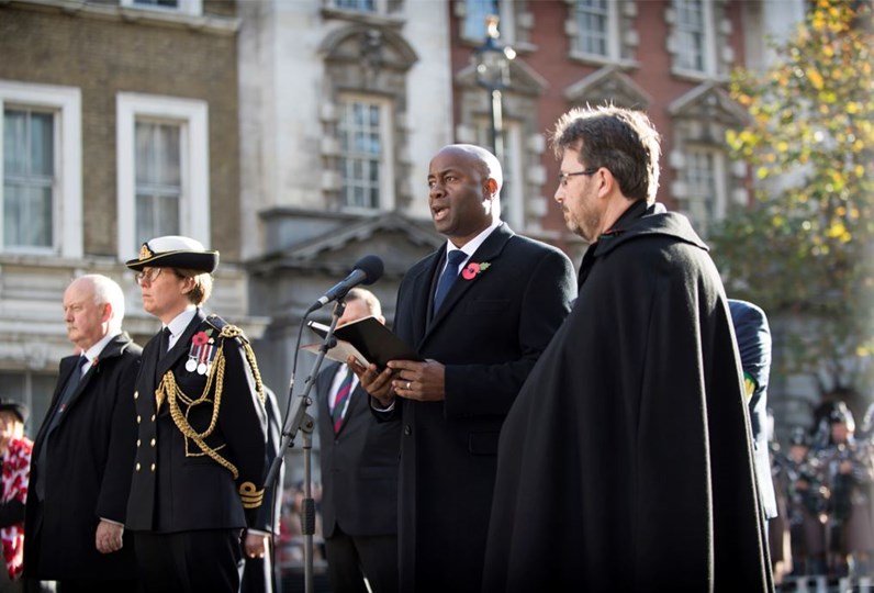
<path fill-rule="evenodd" d="M 556 123 L 556 157 L 580 152 L 581 164 L 608 169 L 632 200 L 656 201 L 659 189 L 659 133 L 642 111 L 615 105 L 574 108 Z"/>

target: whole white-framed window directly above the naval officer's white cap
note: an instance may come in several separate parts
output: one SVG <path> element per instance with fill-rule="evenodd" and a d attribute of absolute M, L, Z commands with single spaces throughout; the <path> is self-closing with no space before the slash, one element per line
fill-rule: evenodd
<path fill-rule="evenodd" d="M 204 101 L 120 93 L 119 258 L 155 236 L 210 243 L 208 105 Z"/>

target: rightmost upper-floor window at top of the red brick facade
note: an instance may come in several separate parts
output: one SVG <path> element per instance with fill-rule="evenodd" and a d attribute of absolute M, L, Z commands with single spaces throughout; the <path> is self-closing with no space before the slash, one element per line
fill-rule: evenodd
<path fill-rule="evenodd" d="M 675 64 L 681 70 L 711 72 L 713 2 L 674 0 Z"/>

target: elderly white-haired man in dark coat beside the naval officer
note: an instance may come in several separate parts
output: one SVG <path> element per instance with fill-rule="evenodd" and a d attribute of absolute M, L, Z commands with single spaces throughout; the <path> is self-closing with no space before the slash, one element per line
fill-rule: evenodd
<path fill-rule="evenodd" d="M 33 447 L 25 577 L 63 591 L 137 591 L 124 532 L 136 449 L 134 379 L 142 349 L 122 332 L 124 293 L 82 276 L 64 293 L 67 337 L 58 384 Z"/>

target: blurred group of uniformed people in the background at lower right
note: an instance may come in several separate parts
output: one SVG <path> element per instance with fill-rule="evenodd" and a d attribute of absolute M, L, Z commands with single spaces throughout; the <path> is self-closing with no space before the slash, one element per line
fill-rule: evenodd
<path fill-rule="evenodd" d="M 856 426 L 843 402 L 820 406 L 787 448 L 772 444 L 780 514 L 770 522 L 777 583 L 823 578 L 870 586 L 874 551 L 874 404 Z"/>

